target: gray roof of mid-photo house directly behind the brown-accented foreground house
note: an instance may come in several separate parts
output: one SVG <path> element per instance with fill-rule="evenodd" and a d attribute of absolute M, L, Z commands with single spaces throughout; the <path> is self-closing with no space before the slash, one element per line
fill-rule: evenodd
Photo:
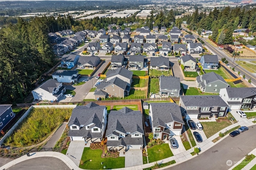
<path fill-rule="evenodd" d="M 180 90 L 180 77 L 174 76 L 160 76 L 161 89 L 179 89 Z"/>

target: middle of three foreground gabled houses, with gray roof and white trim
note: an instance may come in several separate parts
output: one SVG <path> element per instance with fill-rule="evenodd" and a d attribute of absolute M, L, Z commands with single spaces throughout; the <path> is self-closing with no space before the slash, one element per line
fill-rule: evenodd
<path fill-rule="evenodd" d="M 142 149 L 144 128 L 141 112 L 128 107 L 110 111 L 106 137 L 108 150 L 125 152 L 129 149 Z"/>

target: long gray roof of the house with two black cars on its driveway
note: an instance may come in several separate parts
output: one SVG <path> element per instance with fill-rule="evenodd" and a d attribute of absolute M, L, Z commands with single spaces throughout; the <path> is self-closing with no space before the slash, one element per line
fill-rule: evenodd
<path fill-rule="evenodd" d="M 228 107 L 228 105 L 218 95 L 188 95 L 180 96 L 185 106 L 197 107 Z"/>

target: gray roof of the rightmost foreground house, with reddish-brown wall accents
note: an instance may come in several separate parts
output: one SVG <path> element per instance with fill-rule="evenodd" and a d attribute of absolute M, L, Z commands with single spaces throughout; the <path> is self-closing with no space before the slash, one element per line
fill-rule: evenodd
<path fill-rule="evenodd" d="M 150 103 L 152 107 L 153 127 L 166 127 L 165 123 L 176 121 L 184 124 L 180 107 L 176 103 Z"/>

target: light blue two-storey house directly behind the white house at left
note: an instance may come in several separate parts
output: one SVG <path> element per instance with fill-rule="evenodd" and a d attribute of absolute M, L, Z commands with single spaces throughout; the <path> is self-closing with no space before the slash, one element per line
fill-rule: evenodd
<path fill-rule="evenodd" d="M 59 83 L 76 83 L 80 77 L 77 70 L 57 70 L 52 73 L 52 78 Z"/>

